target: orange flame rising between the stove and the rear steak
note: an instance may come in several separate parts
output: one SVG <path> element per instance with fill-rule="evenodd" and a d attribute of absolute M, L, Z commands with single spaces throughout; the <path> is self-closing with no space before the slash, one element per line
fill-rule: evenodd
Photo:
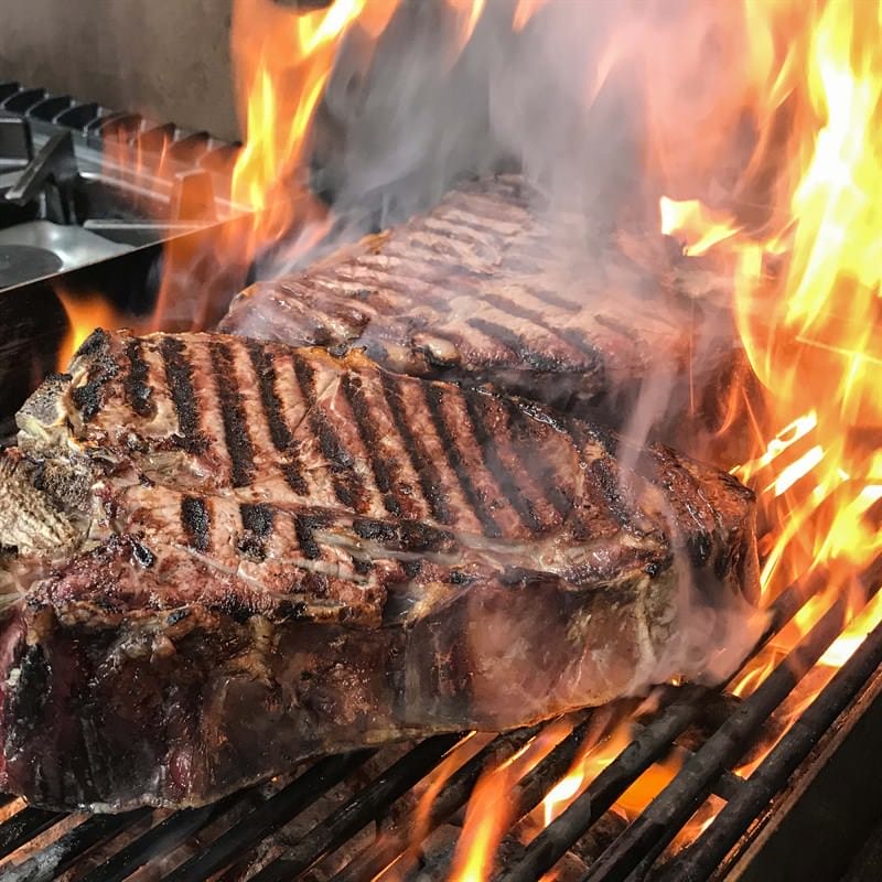
<path fill-rule="evenodd" d="M 311 122 L 346 36 L 358 29 L 365 45 L 376 42 L 399 2 L 334 0 L 301 10 L 236 0 L 230 49 L 245 143 L 209 181 L 184 185 L 194 166 L 173 160 L 169 141 L 153 150 L 123 131 L 105 139 L 105 172 L 172 234 L 163 236 L 151 330 L 211 326 L 256 258 L 284 238 L 295 259 L 324 236 L 331 217 L 306 182 Z M 184 235 L 192 230 L 202 233 Z"/>

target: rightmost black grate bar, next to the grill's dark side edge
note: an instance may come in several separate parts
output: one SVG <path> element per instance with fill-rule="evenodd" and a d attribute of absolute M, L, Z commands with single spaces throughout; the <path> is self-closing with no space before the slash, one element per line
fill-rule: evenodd
<path fill-rule="evenodd" d="M 787 730 L 722 808 L 713 824 L 663 874 L 664 882 L 706 879 L 744 835 L 747 825 L 768 804 L 882 665 L 882 624 L 870 633 L 854 655 L 833 675 L 811 706 Z"/>

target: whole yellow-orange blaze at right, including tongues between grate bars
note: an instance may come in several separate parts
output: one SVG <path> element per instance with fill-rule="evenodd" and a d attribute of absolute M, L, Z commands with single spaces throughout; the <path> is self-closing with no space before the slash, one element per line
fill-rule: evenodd
<path fill-rule="evenodd" d="M 774 166 L 762 233 L 738 219 L 743 205 L 721 213 L 698 200 L 663 198 L 662 226 L 684 238 L 687 255 L 714 250 L 733 261 L 735 321 L 768 430 L 733 470 L 755 488 L 766 525 L 763 601 L 813 573 L 827 588 L 742 670 L 732 687 L 740 696 L 836 596 L 847 598 L 851 622 L 824 666 L 845 664 L 882 621 L 879 596 L 857 614 L 865 601 L 858 573 L 882 553 L 882 7 L 745 3 L 745 13 L 766 46 L 785 46 L 756 71 L 768 87 L 753 105 L 761 133 L 740 184 L 743 193 L 757 169 Z M 782 117 L 790 123 L 783 142 Z M 797 690 L 785 716 L 821 687 L 813 679 Z"/>

